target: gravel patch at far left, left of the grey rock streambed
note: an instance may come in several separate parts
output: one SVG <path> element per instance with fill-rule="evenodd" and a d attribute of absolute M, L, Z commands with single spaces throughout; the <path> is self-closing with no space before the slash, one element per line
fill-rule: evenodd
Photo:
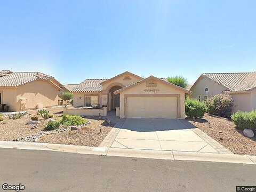
<path fill-rule="evenodd" d="M 62 114 L 54 114 L 54 119 L 59 120 Z M 34 125 L 27 125 L 27 122 L 31 120 L 31 115 L 25 115 L 19 119 L 10 119 L 8 116 L 4 116 L 4 121 L 0 122 L 0 140 L 12 141 L 20 139 L 22 137 L 28 137 L 34 135 L 44 129 L 48 120 L 39 118 L 39 124 L 36 129 L 31 129 Z"/>

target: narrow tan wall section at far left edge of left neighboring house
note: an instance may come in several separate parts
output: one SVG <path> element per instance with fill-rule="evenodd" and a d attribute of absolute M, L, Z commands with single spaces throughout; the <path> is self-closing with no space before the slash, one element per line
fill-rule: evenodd
<path fill-rule="evenodd" d="M 16 102 L 16 88 L 0 88 L 1 93 L 1 103 L 9 105 L 9 111 L 17 111 L 18 106 Z"/>

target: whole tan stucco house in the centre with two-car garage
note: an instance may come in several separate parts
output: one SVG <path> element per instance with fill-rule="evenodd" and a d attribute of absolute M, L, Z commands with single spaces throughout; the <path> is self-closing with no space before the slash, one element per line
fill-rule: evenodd
<path fill-rule="evenodd" d="M 86 79 L 71 92 L 74 107 L 85 108 L 83 115 L 91 114 L 88 108 L 107 106 L 107 111 L 118 110 L 120 118 L 185 118 L 185 93 L 191 94 L 164 78 L 128 71 L 110 79 Z"/>

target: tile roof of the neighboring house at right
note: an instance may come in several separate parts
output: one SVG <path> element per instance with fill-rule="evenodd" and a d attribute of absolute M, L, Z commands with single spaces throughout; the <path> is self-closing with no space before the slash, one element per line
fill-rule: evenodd
<path fill-rule="evenodd" d="M 256 87 L 256 72 L 202 74 L 227 88 L 226 91 L 248 91 Z"/>

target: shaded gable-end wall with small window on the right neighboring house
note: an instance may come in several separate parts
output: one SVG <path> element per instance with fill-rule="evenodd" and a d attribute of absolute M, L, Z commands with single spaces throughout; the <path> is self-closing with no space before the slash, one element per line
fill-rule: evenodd
<path fill-rule="evenodd" d="M 205 92 L 205 87 L 208 87 L 208 92 Z M 190 91 L 193 92 L 191 94 L 191 98 L 198 99 L 199 95 L 201 95 L 201 101 L 204 100 L 204 95 L 207 95 L 207 97 L 210 98 L 213 97 L 215 94 L 221 94 L 224 90 L 226 90 L 226 87 L 215 83 L 214 81 L 206 77 L 200 79 L 195 84 L 195 86 L 190 89 Z"/>

